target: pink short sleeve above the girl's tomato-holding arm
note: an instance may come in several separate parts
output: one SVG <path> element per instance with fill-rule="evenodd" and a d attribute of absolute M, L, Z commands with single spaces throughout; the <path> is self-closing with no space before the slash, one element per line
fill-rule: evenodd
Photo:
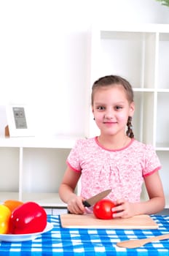
<path fill-rule="evenodd" d="M 149 176 L 160 168 L 160 159 L 157 157 L 154 147 L 146 145 L 143 176 Z"/>

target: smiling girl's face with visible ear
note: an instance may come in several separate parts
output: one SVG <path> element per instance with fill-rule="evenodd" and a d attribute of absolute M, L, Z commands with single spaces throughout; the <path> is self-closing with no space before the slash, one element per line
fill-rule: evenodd
<path fill-rule="evenodd" d="M 122 86 L 105 86 L 95 90 L 93 115 L 101 134 L 124 134 L 128 116 L 133 116 L 134 103 L 127 100 Z"/>

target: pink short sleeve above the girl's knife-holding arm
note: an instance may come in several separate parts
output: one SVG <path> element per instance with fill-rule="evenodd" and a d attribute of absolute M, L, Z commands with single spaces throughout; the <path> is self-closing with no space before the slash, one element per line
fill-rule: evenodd
<path fill-rule="evenodd" d="M 74 147 L 71 149 L 71 152 L 68 155 L 66 160 L 67 165 L 69 165 L 75 171 L 81 171 L 79 154 L 82 151 L 82 140 L 76 140 Z"/>

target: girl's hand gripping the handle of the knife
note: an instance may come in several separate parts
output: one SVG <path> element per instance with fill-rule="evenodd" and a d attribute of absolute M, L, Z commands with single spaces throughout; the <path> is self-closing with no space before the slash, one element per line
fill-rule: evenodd
<path fill-rule="evenodd" d="M 82 200 L 84 200 L 82 197 L 75 194 L 72 195 L 67 203 L 68 211 L 70 211 L 71 214 L 84 214 L 85 208 L 82 204 Z"/>

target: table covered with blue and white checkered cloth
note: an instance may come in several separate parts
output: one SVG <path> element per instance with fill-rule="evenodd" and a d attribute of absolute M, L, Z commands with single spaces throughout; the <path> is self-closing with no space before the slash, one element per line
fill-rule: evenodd
<path fill-rule="evenodd" d="M 169 240 L 146 244 L 136 249 L 116 246 L 118 241 L 147 238 L 169 233 L 169 216 L 151 216 L 158 223 L 157 230 L 67 229 L 60 227 L 59 215 L 47 215 L 54 228 L 34 241 L 0 241 L 0 256 L 82 256 L 82 255 L 139 255 L 168 256 Z"/>

